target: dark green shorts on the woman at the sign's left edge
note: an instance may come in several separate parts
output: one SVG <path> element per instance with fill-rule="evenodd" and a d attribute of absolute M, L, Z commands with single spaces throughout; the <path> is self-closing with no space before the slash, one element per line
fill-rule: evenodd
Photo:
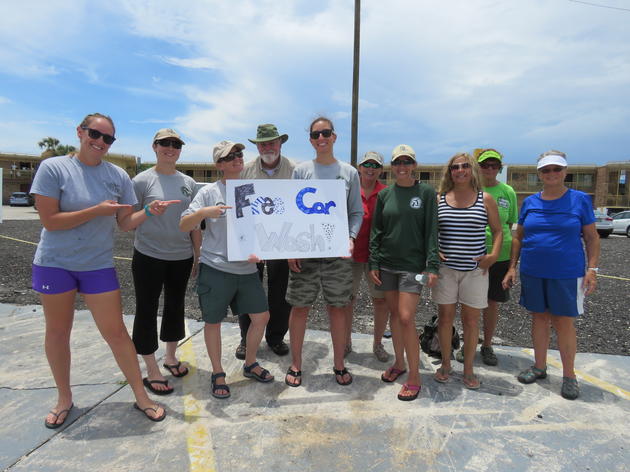
<path fill-rule="evenodd" d="M 234 315 L 263 313 L 269 309 L 258 271 L 230 274 L 199 264 L 197 295 L 201 317 L 210 324 L 220 323 L 227 316 L 228 306 Z"/>

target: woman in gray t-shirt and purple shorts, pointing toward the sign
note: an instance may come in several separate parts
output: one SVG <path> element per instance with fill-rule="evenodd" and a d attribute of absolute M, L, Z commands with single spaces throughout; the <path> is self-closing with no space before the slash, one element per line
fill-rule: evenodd
<path fill-rule="evenodd" d="M 130 230 L 162 214 L 167 202 L 154 201 L 133 211 L 131 179 L 103 160 L 114 142 L 111 118 L 88 115 L 77 127 L 79 152 L 46 159 L 31 187 L 44 229 L 33 261 L 33 289 L 40 293 L 46 318 L 45 348 L 58 399 L 45 420 L 64 424 L 74 406 L 70 389 L 70 332 L 77 292 L 83 294 L 96 325 L 136 398 L 134 407 L 161 421 L 164 408 L 142 386 L 136 351 L 122 321 L 120 288 L 113 261 L 114 225 Z"/>

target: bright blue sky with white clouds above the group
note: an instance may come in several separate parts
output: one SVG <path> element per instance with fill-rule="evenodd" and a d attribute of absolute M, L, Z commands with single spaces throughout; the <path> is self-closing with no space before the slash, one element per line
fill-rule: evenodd
<path fill-rule="evenodd" d="M 595 6 L 600 5 L 600 6 Z M 358 151 L 411 145 L 419 162 L 493 147 L 506 163 L 558 149 L 569 164 L 630 159 L 630 1 L 363 0 Z M 351 0 L 23 0 L 0 16 L 0 152 L 78 143 L 110 115 L 110 152 L 154 161 L 159 128 L 180 161 L 208 162 L 261 123 L 308 160 L 330 117 L 350 161 Z"/>

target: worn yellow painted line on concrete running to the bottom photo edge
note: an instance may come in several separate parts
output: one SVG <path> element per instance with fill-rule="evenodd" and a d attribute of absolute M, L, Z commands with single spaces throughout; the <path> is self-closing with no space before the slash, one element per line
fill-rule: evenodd
<path fill-rule="evenodd" d="M 216 472 L 217 465 L 212 447 L 212 436 L 208 430 L 203 415 L 205 406 L 197 400 L 198 392 L 197 359 L 189 337 L 188 323 L 186 323 L 188 340 L 179 346 L 180 359 L 188 363 L 190 373 L 183 378 L 184 388 L 184 420 L 188 424 L 186 443 L 190 460 L 190 472 Z"/>

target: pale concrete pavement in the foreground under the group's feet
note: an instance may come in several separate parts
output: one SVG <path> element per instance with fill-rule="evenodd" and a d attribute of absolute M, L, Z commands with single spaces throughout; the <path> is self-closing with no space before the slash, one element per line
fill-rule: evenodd
<path fill-rule="evenodd" d="M 130 326 L 130 317 L 126 317 Z M 168 417 L 152 423 L 132 408 L 131 389 L 86 311 L 72 337 L 75 408 L 59 430 L 44 428 L 55 389 L 42 344 L 41 307 L 0 304 L 0 469 L 85 470 L 606 470 L 630 463 L 630 358 L 578 354 L 581 397 L 559 395 L 559 356 L 549 377 L 521 385 L 515 373 L 531 352 L 497 346 L 499 366 L 477 359 L 483 384 L 461 383 L 461 364 L 447 384 L 431 379 L 435 359 L 422 357 L 423 389 L 400 402 L 400 382 L 385 384 L 372 339 L 356 335 L 347 358 L 350 386 L 335 383 L 330 336 L 308 331 L 303 386 L 283 378 L 290 359 L 267 347 L 259 360 L 276 376 L 261 384 L 233 357 L 238 326 L 223 325 L 224 368 L 232 397 L 210 396 L 210 363 L 202 323 L 187 320 L 179 348 L 191 372 L 169 377 L 175 393 L 160 397 Z M 391 344 L 386 346 L 391 352 Z M 161 352 L 158 352 L 161 355 Z"/>

